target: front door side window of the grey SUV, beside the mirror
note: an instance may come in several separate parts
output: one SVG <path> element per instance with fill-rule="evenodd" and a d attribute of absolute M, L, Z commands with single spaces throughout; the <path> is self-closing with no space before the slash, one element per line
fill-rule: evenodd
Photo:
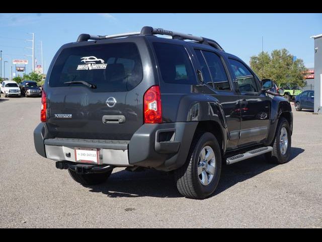
<path fill-rule="evenodd" d="M 229 63 L 237 79 L 240 92 L 258 92 L 256 79 L 248 68 L 235 59 L 229 59 Z"/>

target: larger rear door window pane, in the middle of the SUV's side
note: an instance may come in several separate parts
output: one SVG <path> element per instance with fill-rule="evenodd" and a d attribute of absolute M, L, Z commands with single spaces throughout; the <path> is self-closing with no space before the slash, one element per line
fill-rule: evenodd
<path fill-rule="evenodd" d="M 214 84 L 215 89 L 230 91 L 231 88 L 228 81 L 228 76 L 220 57 L 213 52 L 209 52 L 209 51 L 202 51 L 202 52 L 206 58 L 206 62 L 208 64 L 208 68 L 209 68 L 210 75 L 212 77 L 212 82 Z"/>

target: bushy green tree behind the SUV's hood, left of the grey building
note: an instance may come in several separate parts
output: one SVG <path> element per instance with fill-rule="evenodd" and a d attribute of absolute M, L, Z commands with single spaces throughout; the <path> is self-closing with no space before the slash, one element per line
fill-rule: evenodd
<path fill-rule="evenodd" d="M 271 54 L 261 52 L 251 56 L 250 65 L 261 79 L 272 79 L 277 85 L 292 82 L 303 87 L 305 85 L 304 73 L 307 69 L 302 59 L 293 61 L 293 57 L 287 49 L 275 49 Z"/>

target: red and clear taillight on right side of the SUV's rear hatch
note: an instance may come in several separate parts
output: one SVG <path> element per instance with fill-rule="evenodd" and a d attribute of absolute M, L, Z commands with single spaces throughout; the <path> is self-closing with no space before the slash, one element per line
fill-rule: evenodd
<path fill-rule="evenodd" d="M 144 93 L 144 123 L 162 123 L 161 93 L 159 86 L 152 86 Z"/>

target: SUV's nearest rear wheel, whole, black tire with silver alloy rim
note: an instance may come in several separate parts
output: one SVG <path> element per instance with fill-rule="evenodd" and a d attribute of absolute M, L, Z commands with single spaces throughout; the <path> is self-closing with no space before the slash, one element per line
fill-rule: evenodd
<path fill-rule="evenodd" d="M 186 163 L 175 171 L 178 191 L 187 198 L 204 199 L 216 189 L 221 172 L 221 151 L 211 133 L 197 134 Z"/>

